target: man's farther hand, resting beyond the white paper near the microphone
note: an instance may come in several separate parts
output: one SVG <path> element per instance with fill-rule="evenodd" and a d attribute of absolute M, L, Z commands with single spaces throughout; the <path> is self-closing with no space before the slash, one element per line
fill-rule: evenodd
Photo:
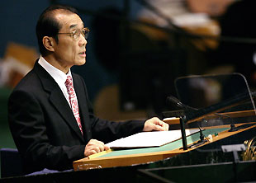
<path fill-rule="evenodd" d="M 145 132 L 149 132 L 153 130 L 168 131 L 168 129 L 169 129 L 168 124 L 164 123 L 162 120 L 159 120 L 159 118 L 154 117 L 149 120 L 146 120 L 143 131 Z"/>

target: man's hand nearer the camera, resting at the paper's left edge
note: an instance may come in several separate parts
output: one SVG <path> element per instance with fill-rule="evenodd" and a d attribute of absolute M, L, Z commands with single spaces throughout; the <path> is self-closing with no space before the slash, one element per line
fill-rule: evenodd
<path fill-rule="evenodd" d="M 96 139 L 91 139 L 88 144 L 84 148 L 84 157 L 88 157 L 92 154 L 95 154 L 97 152 L 107 151 L 109 147 L 107 147 L 104 143 L 101 141 L 98 141 Z"/>

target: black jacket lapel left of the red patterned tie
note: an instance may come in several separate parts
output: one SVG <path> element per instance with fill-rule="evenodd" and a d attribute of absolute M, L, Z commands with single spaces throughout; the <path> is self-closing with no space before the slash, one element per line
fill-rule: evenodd
<path fill-rule="evenodd" d="M 73 129 L 75 134 L 78 135 L 78 138 L 81 138 L 84 141 L 77 121 L 73 116 L 73 112 L 70 109 L 70 106 L 62 91 L 60 90 L 57 82 L 55 82 L 54 78 L 52 78 L 50 74 L 47 73 L 45 69 L 40 66 L 39 63 L 36 62 L 34 68 L 38 77 L 40 77 L 41 83 L 45 88 L 45 91 L 50 93 L 49 100 L 51 104 L 55 106 L 55 109 L 59 112 L 59 115 L 61 115 L 64 118 L 64 121 L 69 124 L 70 128 Z"/>

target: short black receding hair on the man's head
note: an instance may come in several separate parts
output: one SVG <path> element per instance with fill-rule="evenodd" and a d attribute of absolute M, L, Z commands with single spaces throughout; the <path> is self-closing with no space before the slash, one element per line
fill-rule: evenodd
<path fill-rule="evenodd" d="M 36 24 L 36 36 L 39 45 L 40 54 L 45 55 L 48 50 L 43 45 L 44 36 L 54 37 L 58 44 L 58 33 L 61 29 L 61 24 L 55 19 L 56 12 L 64 13 L 75 13 L 78 14 L 77 10 L 73 7 L 64 5 L 52 5 L 47 7 L 44 12 L 41 13 L 37 24 Z"/>

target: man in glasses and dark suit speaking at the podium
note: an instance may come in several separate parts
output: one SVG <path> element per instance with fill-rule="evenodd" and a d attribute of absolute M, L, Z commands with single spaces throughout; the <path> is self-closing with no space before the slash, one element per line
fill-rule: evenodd
<path fill-rule="evenodd" d="M 25 172 L 67 170 L 72 162 L 109 149 L 105 143 L 140 131 L 168 130 L 158 118 L 111 122 L 92 114 L 82 77 L 88 28 L 72 7 L 53 6 L 36 25 L 40 59 L 13 90 L 8 103 L 12 136 Z"/>

